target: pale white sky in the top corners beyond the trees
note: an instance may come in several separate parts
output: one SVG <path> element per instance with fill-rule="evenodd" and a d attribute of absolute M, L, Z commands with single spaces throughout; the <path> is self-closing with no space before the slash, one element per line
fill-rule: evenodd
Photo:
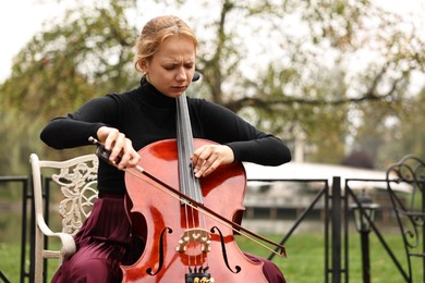
<path fill-rule="evenodd" d="M 376 1 L 390 11 L 425 14 L 425 0 Z M 62 2 L 59 5 L 53 0 L 0 1 L 0 83 L 10 75 L 13 57 L 42 29 L 42 23 L 60 14 L 72 1 Z"/>

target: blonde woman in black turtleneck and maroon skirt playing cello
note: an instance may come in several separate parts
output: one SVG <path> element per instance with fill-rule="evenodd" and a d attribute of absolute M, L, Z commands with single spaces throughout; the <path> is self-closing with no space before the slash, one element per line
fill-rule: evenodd
<path fill-rule="evenodd" d="M 100 140 L 110 150 L 109 161 L 119 169 L 135 167 L 137 150 L 154 142 L 175 138 L 175 98 L 190 86 L 195 74 L 197 41 L 191 28 L 175 16 L 150 20 L 135 46 L 135 67 L 143 73 L 141 86 L 124 94 L 96 98 L 66 118 L 52 120 L 40 138 L 62 149 Z M 203 99 L 187 99 L 193 136 L 218 143 L 196 149 L 192 163 L 196 177 L 233 161 L 265 165 L 289 162 L 291 155 L 277 137 L 262 133 L 233 112 Z M 66 259 L 53 282 L 120 282 L 120 264 L 137 259 L 143 242 L 131 237 L 124 208 L 124 171 L 99 162 L 99 199 L 75 236 L 76 254 Z M 279 269 L 264 262 L 269 282 L 284 282 Z"/>

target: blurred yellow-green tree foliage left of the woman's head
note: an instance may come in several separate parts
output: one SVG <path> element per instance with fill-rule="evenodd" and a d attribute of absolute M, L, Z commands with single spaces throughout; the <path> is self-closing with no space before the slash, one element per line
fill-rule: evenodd
<path fill-rule="evenodd" d="M 1 86 L 5 123 L 0 133 L 5 148 L 13 148 L 0 157 L 4 174 L 22 172 L 32 151 L 44 149 L 38 152 L 50 158 L 87 152 L 52 152 L 38 135 L 48 120 L 65 115 L 87 99 L 134 87 L 137 77 L 130 64 L 137 30 L 126 20 L 130 4 L 134 2 L 111 1 L 109 7 L 70 10 L 16 56 L 12 75 Z"/>

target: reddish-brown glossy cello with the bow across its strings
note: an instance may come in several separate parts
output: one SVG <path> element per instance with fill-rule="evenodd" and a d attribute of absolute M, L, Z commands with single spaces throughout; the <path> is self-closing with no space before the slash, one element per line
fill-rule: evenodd
<path fill-rule="evenodd" d="M 212 142 L 192 137 L 184 94 L 177 106 L 177 139 L 142 148 L 135 172 L 125 170 L 129 219 L 145 247 L 133 264 L 121 266 L 123 282 L 266 282 L 263 263 L 246 258 L 234 241 L 234 232 L 246 232 L 268 242 L 240 226 L 246 186 L 242 163 L 195 177 L 190 157 Z M 275 245 L 284 256 L 284 248 Z"/>

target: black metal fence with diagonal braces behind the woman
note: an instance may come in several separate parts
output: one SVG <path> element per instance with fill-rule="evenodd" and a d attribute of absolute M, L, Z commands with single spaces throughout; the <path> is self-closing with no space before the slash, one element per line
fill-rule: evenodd
<path fill-rule="evenodd" d="M 17 182 L 22 187 L 22 251 L 21 251 L 21 282 L 33 282 L 34 279 L 34 250 L 35 250 L 35 241 L 34 241 L 34 204 L 33 204 L 33 193 L 29 189 L 29 179 L 27 176 L 17 176 L 17 177 L 0 177 L 1 183 L 14 183 Z M 320 210 L 324 214 L 324 238 L 325 238 L 325 282 L 349 282 L 349 222 L 350 222 L 350 201 L 359 204 L 359 199 L 354 194 L 353 189 L 350 187 L 350 182 L 386 182 L 386 180 L 361 180 L 361 179 L 345 179 L 344 182 L 341 181 L 340 176 L 335 176 L 331 184 L 327 179 L 324 180 L 248 180 L 248 182 L 292 182 L 300 184 L 316 183 L 320 184 L 317 194 L 314 196 L 311 204 L 303 208 L 299 213 L 296 220 L 289 227 L 288 233 L 280 241 L 281 245 L 293 235 L 299 225 L 305 220 L 305 218 L 312 213 L 312 211 L 317 207 L 321 200 L 323 207 Z M 363 207 L 360 205 L 361 213 L 365 214 Z M 365 216 L 368 219 L 367 216 Z M 373 231 L 378 236 L 380 243 L 388 251 L 389 257 L 398 267 L 399 272 L 403 274 L 403 268 L 399 261 L 393 256 L 394 253 L 391 250 L 389 245 L 385 242 L 380 231 L 368 219 L 369 224 L 372 225 Z M 29 224 L 28 224 L 29 223 Z M 29 230 L 28 230 L 29 227 Z M 27 253 L 29 250 L 29 253 Z M 269 255 L 269 259 L 272 259 L 275 254 Z M 29 259 L 29 260 L 28 260 Z M 29 264 L 26 264 L 26 261 L 29 261 Z M 0 270 L 0 279 L 3 282 L 9 282 L 5 275 Z"/>

